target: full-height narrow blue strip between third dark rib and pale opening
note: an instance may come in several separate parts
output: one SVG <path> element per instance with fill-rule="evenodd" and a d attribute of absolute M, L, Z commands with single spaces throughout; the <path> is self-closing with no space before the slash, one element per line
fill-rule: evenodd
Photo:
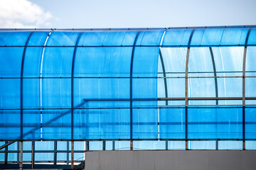
<path fill-rule="evenodd" d="M 136 45 L 160 45 L 164 30 L 140 32 Z M 154 101 L 132 101 L 132 138 L 157 138 L 157 68 L 159 47 L 135 47 L 133 56 L 132 98 L 151 98 Z M 149 78 L 148 78 L 149 77 Z"/>

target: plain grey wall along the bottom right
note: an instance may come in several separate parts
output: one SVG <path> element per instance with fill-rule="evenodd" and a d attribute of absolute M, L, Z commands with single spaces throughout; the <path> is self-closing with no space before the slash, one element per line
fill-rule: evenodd
<path fill-rule="evenodd" d="M 256 151 L 93 151 L 85 170 L 247 170 L 256 169 Z"/>

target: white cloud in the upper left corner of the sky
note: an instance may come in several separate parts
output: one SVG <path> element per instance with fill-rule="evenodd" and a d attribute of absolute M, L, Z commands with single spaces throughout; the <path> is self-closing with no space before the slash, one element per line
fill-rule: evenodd
<path fill-rule="evenodd" d="M 50 25 L 49 12 L 28 0 L 0 0 L 0 28 L 41 28 Z"/>

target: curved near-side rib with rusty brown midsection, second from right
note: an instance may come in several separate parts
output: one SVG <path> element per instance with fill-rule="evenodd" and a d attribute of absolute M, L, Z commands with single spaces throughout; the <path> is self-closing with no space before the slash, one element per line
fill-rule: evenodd
<path fill-rule="evenodd" d="M 194 29 L 191 32 L 191 35 L 188 40 L 188 49 L 186 53 L 186 74 L 185 74 L 185 139 L 186 139 L 186 150 L 188 149 L 188 60 L 189 60 L 189 52 L 190 52 L 190 45 L 191 45 L 191 40 L 193 37 Z"/>

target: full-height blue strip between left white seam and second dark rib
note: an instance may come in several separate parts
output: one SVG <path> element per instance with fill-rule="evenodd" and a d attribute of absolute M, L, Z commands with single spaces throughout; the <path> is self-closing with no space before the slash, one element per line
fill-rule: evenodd
<path fill-rule="evenodd" d="M 48 38 L 47 45 L 74 46 L 78 35 L 76 32 L 55 32 Z M 74 50 L 75 47 L 45 48 L 42 69 L 42 106 L 46 108 L 42 115 L 43 139 L 71 138 L 71 73 Z"/>

